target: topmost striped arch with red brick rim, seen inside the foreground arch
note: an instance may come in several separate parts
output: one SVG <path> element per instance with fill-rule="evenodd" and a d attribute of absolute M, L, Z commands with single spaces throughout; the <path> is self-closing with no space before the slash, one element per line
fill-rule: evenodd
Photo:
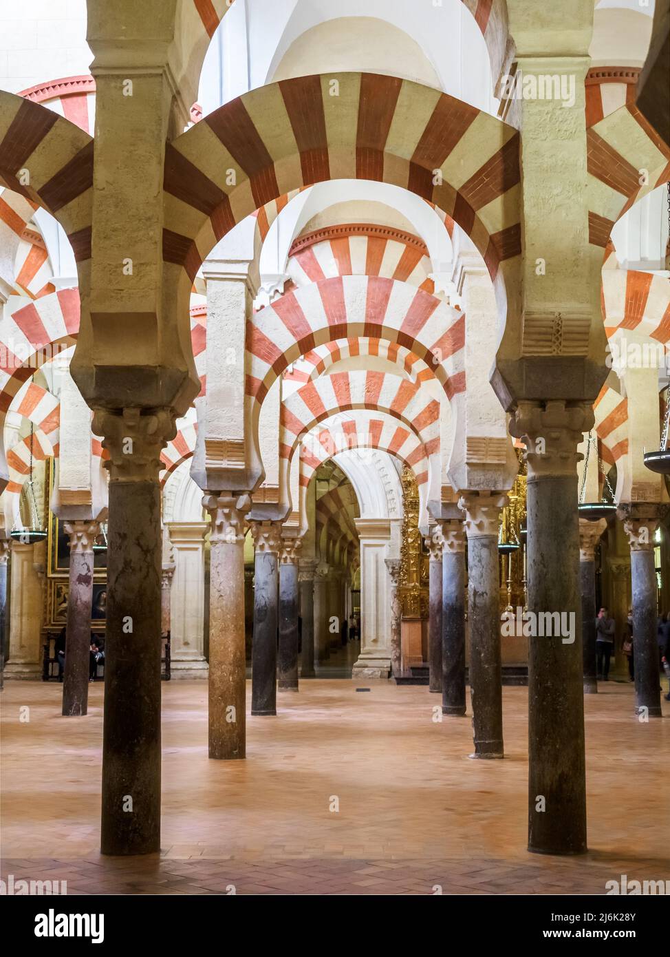
<path fill-rule="evenodd" d="M 382 276 L 434 293 L 433 266 L 415 235 L 369 223 L 330 226 L 296 239 L 287 274 L 295 286 L 335 276 Z"/>

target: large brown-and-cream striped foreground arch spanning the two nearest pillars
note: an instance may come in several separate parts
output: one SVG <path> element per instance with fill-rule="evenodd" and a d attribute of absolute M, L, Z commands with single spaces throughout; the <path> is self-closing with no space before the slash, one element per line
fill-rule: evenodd
<path fill-rule="evenodd" d="M 292 189 L 342 178 L 391 183 L 436 203 L 471 237 L 493 278 L 521 251 L 517 130 L 410 80 L 282 80 L 166 145 L 163 259 L 178 309 L 209 251 L 238 222 Z"/>

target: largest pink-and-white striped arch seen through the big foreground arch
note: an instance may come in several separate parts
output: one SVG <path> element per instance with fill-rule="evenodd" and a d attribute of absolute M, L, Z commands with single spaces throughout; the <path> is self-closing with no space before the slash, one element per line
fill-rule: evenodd
<path fill-rule="evenodd" d="M 254 315 L 247 337 L 254 418 L 276 377 L 300 356 L 361 336 L 404 346 L 434 367 L 447 398 L 465 391 L 464 313 L 405 282 L 343 276 L 297 289 Z"/>

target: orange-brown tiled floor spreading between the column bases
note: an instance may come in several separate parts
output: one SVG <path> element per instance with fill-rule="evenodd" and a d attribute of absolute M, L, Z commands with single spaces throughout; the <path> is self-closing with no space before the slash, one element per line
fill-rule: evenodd
<path fill-rule="evenodd" d="M 506 760 L 478 762 L 470 721 L 434 723 L 426 687 L 316 679 L 281 694 L 276 718 L 249 718 L 248 759 L 232 763 L 207 758 L 205 682 L 164 683 L 162 854 L 105 858 L 102 684 L 73 719 L 62 686 L 8 681 L 0 877 L 66 879 L 70 894 L 578 894 L 621 874 L 670 879 L 670 704 L 639 723 L 630 685 L 600 687 L 585 699 L 586 857 L 526 851 L 526 688 L 503 689 Z"/>

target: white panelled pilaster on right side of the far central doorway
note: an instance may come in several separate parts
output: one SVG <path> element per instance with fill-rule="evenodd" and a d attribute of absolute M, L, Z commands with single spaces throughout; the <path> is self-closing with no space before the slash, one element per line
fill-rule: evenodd
<path fill-rule="evenodd" d="M 355 678 L 388 679 L 391 672 L 390 609 L 385 560 L 391 539 L 388 519 L 357 519 L 360 541 L 360 655 Z"/>

